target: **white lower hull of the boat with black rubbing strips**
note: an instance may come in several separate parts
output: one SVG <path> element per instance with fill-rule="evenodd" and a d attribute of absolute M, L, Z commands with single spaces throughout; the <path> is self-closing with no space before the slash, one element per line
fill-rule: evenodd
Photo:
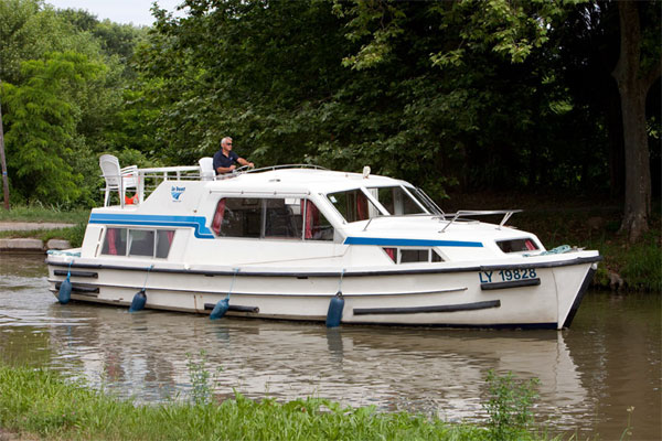
<path fill-rule="evenodd" d="M 563 329 L 599 260 L 580 251 L 525 263 L 346 272 L 127 267 L 81 258 L 72 263 L 66 256 L 50 256 L 47 263 L 53 293 L 71 271 L 71 298 L 85 302 L 129 306 L 146 288 L 147 309 L 209 314 L 229 295 L 226 315 L 324 321 L 341 292 L 343 324 Z"/>

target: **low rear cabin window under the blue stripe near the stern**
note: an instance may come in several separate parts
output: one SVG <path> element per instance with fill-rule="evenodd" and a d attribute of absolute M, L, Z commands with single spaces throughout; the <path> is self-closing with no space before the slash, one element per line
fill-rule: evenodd
<path fill-rule="evenodd" d="M 173 229 L 107 228 L 103 255 L 168 258 Z"/>

